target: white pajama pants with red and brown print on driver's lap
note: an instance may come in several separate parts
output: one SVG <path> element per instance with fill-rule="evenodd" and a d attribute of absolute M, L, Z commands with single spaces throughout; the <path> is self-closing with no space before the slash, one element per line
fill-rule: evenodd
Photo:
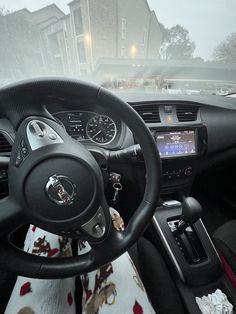
<path fill-rule="evenodd" d="M 79 255 L 90 249 L 87 242 L 78 245 Z M 24 250 L 48 258 L 63 258 L 72 254 L 68 239 L 32 225 L 26 235 Z M 83 314 L 154 314 L 137 276 L 128 253 L 81 276 Z M 75 314 L 74 291 L 75 278 L 27 280 L 19 276 L 5 314 Z"/>

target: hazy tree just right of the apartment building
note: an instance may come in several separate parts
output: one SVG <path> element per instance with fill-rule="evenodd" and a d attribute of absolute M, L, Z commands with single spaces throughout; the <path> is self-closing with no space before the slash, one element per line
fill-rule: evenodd
<path fill-rule="evenodd" d="M 161 24 L 161 31 L 161 59 L 189 60 L 193 57 L 196 46 L 195 43 L 190 40 L 187 29 L 179 24 L 171 28 L 165 28 L 165 26 Z"/>

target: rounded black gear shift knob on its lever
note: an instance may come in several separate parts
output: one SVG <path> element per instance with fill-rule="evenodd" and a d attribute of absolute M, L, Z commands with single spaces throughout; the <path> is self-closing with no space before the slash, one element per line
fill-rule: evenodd
<path fill-rule="evenodd" d="M 202 206 L 193 197 L 185 197 L 182 203 L 182 216 L 178 222 L 177 230 L 183 232 L 201 218 Z"/>

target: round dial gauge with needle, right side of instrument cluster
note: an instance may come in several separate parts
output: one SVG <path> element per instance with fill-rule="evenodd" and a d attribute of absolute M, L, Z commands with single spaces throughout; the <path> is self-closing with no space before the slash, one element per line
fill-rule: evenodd
<path fill-rule="evenodd" d="M 86 132 L 92 142 L 105 145 L 114 140 L 117 127 L 110 117 L 106 115 L 96 115 L 88 121 Z"/>

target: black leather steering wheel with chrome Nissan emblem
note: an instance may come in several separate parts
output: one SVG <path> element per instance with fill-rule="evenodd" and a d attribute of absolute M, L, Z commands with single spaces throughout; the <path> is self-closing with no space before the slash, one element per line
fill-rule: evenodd
<path fill-rule="evenodd" d="M 111 223 L 95 158 L 46 110 L 43 102 L 50 95 L 92 101 L 113 110 L 140 144 L 146 188 L 124 232 Z M 65 278 L 95 270 L 129 249 L 154 214 L 161 171 L 157 146 L 133 108 L 96 85 L 44 78 L 2 88 L 0 114 L 17 131 L 8 169 L 9 196 L 0 201 L 0 268 L 33 278 Z M 28 254 L 11 243 L 9 234 L 30 223 L 58 235 L 86 240 L 92 249 L 65 258 Z"/>

